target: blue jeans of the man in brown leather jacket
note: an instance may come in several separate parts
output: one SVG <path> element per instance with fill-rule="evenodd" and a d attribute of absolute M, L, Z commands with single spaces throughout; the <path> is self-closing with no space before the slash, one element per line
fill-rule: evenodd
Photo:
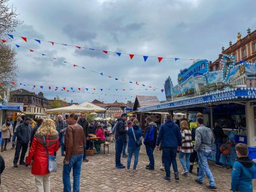
<path fill-rule="evenodd" d="M 71 168 L 73 168 L 73 192 L 79 191 L 80 184 L 80 172 L 81 172 L 81 164 L 83 160 L 84 154 L 79 154 L 77 156 L 71 156 L 69 160 L 69 164 L 63 163 L 63 185 L 64 192 L 71 192 L 71 183 L 70 183 L 70 172 Z"/>

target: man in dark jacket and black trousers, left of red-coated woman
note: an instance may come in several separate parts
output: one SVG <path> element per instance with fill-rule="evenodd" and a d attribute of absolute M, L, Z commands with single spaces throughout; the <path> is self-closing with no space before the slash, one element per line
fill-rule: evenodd
<path fill-rule="evenodd" d="M 13 159 L 13 167 L 18 167 L 17 163 L 20 157 L 20 164 L 24 164 L 24 158 L 28 150 L 28 143 L 31 137 L 31 126 L 30 117 L 26 117 L 24 123 L 20 124 L 17 128 L 17 144 L 15 148 L 15 156 Z M 20 150 L 22 150 L 22 155 L 20 156 Z"/>

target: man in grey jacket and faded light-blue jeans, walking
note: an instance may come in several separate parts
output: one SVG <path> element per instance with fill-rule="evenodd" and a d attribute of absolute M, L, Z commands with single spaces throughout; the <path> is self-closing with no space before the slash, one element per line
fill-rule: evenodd
<path fill-rule="evenodd" d="M 195 179 L 196 183 L 203 184 L 204 174 L 210 181 L 210 185 L 206 185 L 205 188 L 209 190 L 216 190 L 216 183 L 214 176 L 209 168 L 207 158 L 211 156 L 212 146 L 214 146 L 214 135 L 212 130 L 203 125 L 203 118 L 197 118 L 197 129 L 195 130 L 195 147 L 194 150 L 197 152 L 199 158 L 199 172 L 198 177 Z"/>

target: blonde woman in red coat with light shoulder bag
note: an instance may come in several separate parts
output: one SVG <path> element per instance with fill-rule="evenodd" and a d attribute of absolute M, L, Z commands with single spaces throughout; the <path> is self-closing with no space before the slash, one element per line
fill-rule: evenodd
<path fill-rule="evenodd" d="M 31 172 L 36 178 L 37 192 L 50 191 L 48 156 L 44 147 L 43 136 L 46 140 L 46 147 L 49 155 L 54 156 L 55 152 L 59 150 L 59 136 L 56 131 L 55 122 L 52 119 L 45 119 L 42 122 L 42 125 L 38 128 L 38 131 L 36 131 L 26 160 L 26 166 L 28 166 L 31 164 L 31 160 L 34 157 Z"/>

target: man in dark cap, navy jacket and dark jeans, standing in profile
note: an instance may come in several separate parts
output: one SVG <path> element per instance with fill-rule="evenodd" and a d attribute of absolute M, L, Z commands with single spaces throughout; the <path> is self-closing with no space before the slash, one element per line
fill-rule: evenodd
<path fill-rule="evenodd" d="M 117 121 L 117 127 L 115 131 L 116 168 L 125 168 L 125 166 L 121 164 L 121 153 L 122 153 L 123 146 L 125 144 L 126 135 L 127 135 L 127 129 L 125 128 L 126 120 L 127 120 L 127 114 L 123 113 L 121 115 L 121 118 Z"/>

